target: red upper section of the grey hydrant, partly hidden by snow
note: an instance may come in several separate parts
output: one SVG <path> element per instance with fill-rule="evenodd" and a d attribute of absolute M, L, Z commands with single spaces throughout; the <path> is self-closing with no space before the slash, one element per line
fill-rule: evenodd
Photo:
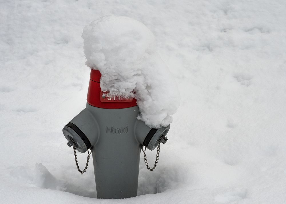
<path fill-rule="evenodd" d="M 108 99 L 102 97 L 105 97 L 105 95 L 102 96 L 102 92 L 100 89 L 100 77 L 101 73 L 99 70 L 91 69 L 90 72 L 90 83 L 88 87 L 88 96 L 87 96 L 87 102 L 89 105 L 92 105 L 94 107 L 98 108 L 106 108 L 106 109 L 121 109 L 121 108 L 130 108 L 136 106 L 136 99 L 132 99 L 131 102 L 122 102 L 122 101 L 108 101 Z M 108 94 L 108 93 L 106 93 Z M 110 99 L 118 99 L 118 96 L 112 96 Z M 106 102 L 102 102 L 106 101 Z"/>

